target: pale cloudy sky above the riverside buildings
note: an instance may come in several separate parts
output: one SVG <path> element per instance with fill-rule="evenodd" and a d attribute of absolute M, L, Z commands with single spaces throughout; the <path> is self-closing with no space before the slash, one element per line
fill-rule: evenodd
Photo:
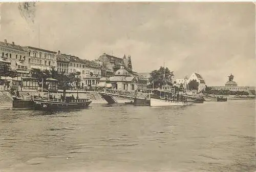
<path fill-rule="evenodd" d="M 18 3 L 0 6 L 0 40 L 93 60 L 131 55 L 136 72 L 165 64 L 175 78 L 256 85 L 253 3 Z M 40 28 L 40 29 L 39 29 Z"/>

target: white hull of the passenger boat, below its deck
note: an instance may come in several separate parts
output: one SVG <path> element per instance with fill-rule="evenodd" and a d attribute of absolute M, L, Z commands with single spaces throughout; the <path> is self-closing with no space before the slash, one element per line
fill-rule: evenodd
<path fill-rule="evenodd" d="M 190 104 L 192 103 L 184 102 L 184 101 L 157 99 L 157 98 L 150 99 L 150 106 L 184 106 L 184 105 L 190 105 Z"/>

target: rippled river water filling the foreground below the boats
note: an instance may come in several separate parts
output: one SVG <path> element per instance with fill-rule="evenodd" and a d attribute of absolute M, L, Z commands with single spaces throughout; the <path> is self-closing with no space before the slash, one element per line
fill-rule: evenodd
<path fill-rule="evenodd" d="M 255 100 L 0 111 L 0 171 L 255 171 Z"/>

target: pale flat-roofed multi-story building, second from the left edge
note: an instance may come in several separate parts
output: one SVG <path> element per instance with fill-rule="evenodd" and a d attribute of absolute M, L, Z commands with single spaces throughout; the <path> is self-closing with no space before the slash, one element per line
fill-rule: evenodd
<path fill-rule="evenodd" d="M 24 47 L 28 51 L 28 61 L 31 69 L 51 70 L 57 67 L 56 52 L 36 47 Z"/>

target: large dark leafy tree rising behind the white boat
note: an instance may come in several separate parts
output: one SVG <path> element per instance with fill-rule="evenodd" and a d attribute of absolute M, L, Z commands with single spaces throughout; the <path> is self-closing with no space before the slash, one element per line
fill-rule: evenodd
<path fill-rule="evenodd" d="M 172 76 L 173 72 L 170 72 L 168 68 L 160 67 L 159 70 L 154 70 L 150 73 L 150 82 L 152 83 L 151 86 L 153 88 L 153 82 L 154 82 L 154 88 L 155 87 L 161 87 L 164 84 L 171 85 L 172 84 Z"/>

